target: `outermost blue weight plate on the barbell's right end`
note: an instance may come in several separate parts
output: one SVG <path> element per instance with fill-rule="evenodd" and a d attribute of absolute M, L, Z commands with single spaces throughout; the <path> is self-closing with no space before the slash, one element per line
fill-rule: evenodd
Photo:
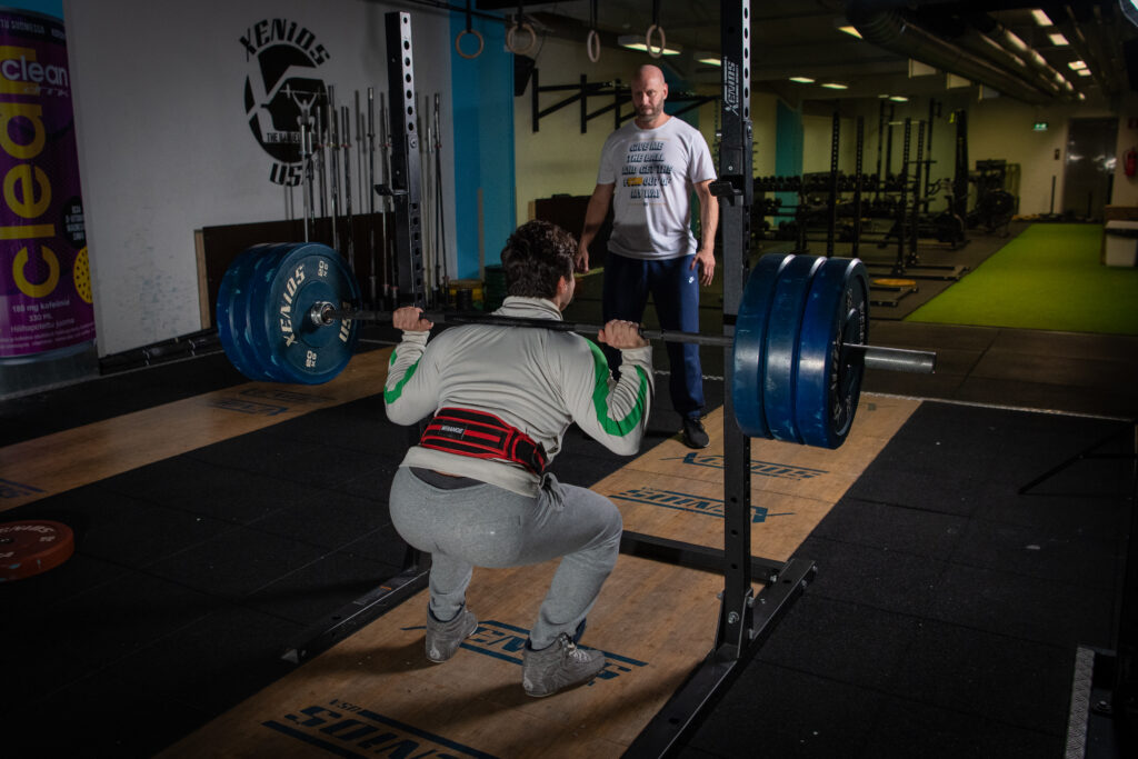
<path fill-rule="evenodd" d="M 865 363 L 846 345 L 866 345 L 869 284 L 857 258 L 828 258 L 814 273 L 802 314 L 794 420 L 802 443 L 836 448 L 853 423 Z"/>

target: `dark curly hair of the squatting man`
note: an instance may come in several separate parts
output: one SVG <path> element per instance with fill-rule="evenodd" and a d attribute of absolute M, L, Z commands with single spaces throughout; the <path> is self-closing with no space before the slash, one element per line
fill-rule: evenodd
<path fill-rule="evenodd" d="M 558 280 L 572 277 L 577 239 L 556 224 L 526 222 L 505 241 L 502 269 L 506 292 L 527 298 L 552 298 Z"/>

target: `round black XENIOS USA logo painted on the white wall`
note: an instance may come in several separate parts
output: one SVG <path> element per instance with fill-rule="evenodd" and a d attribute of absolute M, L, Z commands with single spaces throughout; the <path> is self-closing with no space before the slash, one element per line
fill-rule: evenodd
<path fill-rule="evenodd" d="M 269 179 L 300 183 L 300 117 L 327 101 L 319 67 L 329 58 L 316 35 L 287 18 L 263 19 L 240 39 L 249 72 L 245 115 L 253 137 L 273 158 Z"/>

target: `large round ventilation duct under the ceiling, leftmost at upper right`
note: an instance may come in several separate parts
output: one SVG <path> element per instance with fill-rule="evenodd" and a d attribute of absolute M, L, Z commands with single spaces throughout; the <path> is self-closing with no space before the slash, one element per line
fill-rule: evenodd
<path fill-rule="evenodd" d="M 898 5 L 902 3 L 888 0 L 851 0 L 847 5 L 846 15 L 857 27 L 861 39 L 871 44 L 984 84 L 1023 102 L 1042 105 L 1050 100 L 1049 93 L 1045 93 L 1021 75 L 916 26 L 896 9 Z"/>

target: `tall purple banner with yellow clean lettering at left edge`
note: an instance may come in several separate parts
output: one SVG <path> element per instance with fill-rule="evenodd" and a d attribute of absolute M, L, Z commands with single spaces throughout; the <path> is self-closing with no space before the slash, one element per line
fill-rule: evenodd
<path fill-rule="evenodd" d="M 0 10 L 0 358 L 94 337 L 63 22 Z"/>

